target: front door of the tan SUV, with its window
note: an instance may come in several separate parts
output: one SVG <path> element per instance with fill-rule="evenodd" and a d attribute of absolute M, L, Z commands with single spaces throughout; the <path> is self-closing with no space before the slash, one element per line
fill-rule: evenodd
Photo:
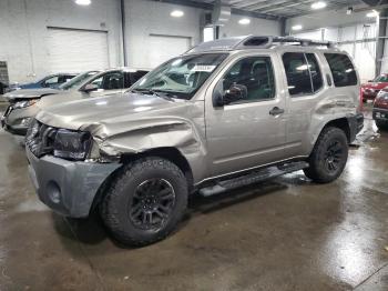
<path fill-rule="evenodd" d="M 264 165 L 284 158 L 285 100 L 269 56 L 244 57 L 231 64 L 206 94 L 206 138 L 212 174 Z M 244 100 L 213 106 L 212 96 L 232 87 L 246 88 Z M 208 90 L 210 91 L 210 90 Z"/>

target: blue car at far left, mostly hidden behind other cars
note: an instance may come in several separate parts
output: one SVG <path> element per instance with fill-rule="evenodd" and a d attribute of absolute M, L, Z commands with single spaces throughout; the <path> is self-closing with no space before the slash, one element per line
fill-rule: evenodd
<path fill-rule="evenodd" d="M 20 90 L 20 89 L 39 89 L 39 88 L 58 88 L 62 83 L 65 83 L 73 79 L 78 73 L 55 73 L 55 74 L 49 74 L 42 79 L 39 79 L 35 82 L 31 83 L 13 83 L 10 84 L 8 88 L 8 92 Z"/>

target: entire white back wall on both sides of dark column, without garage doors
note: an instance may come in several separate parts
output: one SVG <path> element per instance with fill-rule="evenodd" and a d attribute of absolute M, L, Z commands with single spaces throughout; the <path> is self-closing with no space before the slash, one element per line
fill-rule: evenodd
<path fill-rule="evenodd" d="M 130 67 L 150 68 L 150 34 L 187 37 L 192 46 L 202 41 L 203 9 L 150 0 L 124 3 Z M 172 18 L 174 9 L 185 16 Z M 221 37 L 280 32 L 277 21 L 251 18 L 251 24 L 242 26 L 241 18 L 232 16 L 221 28 Z M 0 61 L 8 62 L 11 82 L 32 81 L 49 73 L 48 27 L 106 30 L 110 66 L 123 66 L 120 0 L 92 0 L 88 7 L 76 6 L 74 0 L 0 0 Z"/>

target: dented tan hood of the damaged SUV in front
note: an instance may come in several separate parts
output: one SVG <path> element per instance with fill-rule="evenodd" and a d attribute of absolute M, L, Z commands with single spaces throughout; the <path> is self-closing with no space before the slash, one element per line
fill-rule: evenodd
<path fill-rule="evenodd" d="M 44 124 L 71 130 L 88 130 L 100 138 L 129 129 L 129 123 L 159 120 L 188 101 L 167 100 L 155 96 L 129 93 L 65 102 L 42 109 L 37 119 Z M 183 109 L 184 110 L 184 109 Z M 149 123 L 149 122 L 147 122 Z M 132 124 L 133 126 L 133 124 Z M 150 126 L 150 124 L 149 124 Z"/>

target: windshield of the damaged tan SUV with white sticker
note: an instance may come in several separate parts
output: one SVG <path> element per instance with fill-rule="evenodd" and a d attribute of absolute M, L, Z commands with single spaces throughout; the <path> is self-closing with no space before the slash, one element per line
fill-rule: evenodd
<path fill-rule="evenodd" d="M 162 92 L 172 98 L 192 99 L 227 53 L 206 53 L 172 59 L 139 82 L 131 91 Z"/>

